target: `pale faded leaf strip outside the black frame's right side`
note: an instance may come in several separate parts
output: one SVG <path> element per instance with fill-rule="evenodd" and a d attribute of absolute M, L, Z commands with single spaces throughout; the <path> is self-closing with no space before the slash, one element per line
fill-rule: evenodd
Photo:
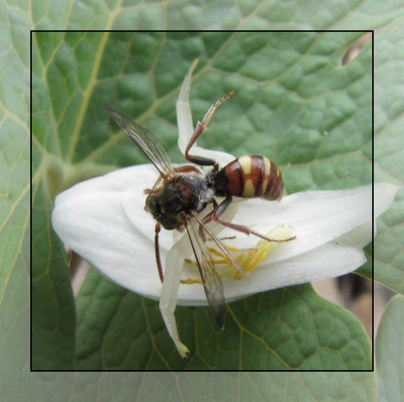
<path fill-rule="evenodd" d="M 376 281 L 404 293 L 404 104 L 400 87 L 404 84 L 402 57 L 404 18 L 390 24 L 375 37 L 375 182 L 389 182 L 400 189 L 390 209 L 377 221 L 378 235 L 374 241 L 374 278 Z M 372 155 L 371 144 L 364 154 Z M 377 197 L 377 194 L 375 194 Z M 371 255 L 371 248 L 367 248 Z M 372 278 L 370 263 L 359 272 Z"/>

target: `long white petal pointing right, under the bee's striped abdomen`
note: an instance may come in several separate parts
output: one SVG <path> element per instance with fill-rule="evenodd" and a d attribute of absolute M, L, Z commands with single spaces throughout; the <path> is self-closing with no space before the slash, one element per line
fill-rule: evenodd
<path fill-rule="evenodd" d="M 395 186 L 375 184 L 375 216 L 385 211 L 394 199 Z M 290 225 L 296 232 L 296 240 L 279 245 L 265 262 L 276 262 L 313 250 L 322 244 L 333 242 L 357 226 L 372 221 L 372 186 L 349 190 L 307 191 L 284 197 L 279 203 L 266 200 L 249 200 L 240 203 L 235 224 L 252 226 L 265 234 L 279 225 Z M 229 236 L 229 230 L 222 236 Z M 371 239 L 371 234 L 370 234 Z M 370 240 L 369 240 L 370 241 Z M 251 247 L 254 236 L 237 235 L 229 245 Z"/>

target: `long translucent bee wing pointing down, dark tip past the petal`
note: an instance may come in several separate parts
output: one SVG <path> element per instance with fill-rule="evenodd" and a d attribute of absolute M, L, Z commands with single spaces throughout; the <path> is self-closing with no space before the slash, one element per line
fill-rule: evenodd
<path fill-rule="evenodd" d="M 223 283 L 215 271 L 212 255 L 205 245 L 205 239 L 199 234 L 199 222 L 191 215 L 185 221 L 185 228 L 191 242 L 193 254 L 198 265 L 200 279 L 204 285 L 213 317 L 220 329 L 224 327 L 226 312 Z"/>

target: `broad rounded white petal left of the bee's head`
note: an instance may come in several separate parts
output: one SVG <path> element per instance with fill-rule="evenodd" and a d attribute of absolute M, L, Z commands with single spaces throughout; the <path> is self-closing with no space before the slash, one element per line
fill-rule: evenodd
<path fill-rule="evenodd" d="M 112 281 L 157 297 L 161 283 L 154 242 L 132 224 L 122 206 L 128 186 L 138 182 L 142 189 L 149 187 L 150 171 L 148 165 L 120 169 L 64 191 L 56 197 L 52 224 L 66 245 Z M 153 219 L 142 221 L 143 204 L 137 202 L 132 209 L 138 213 L 139 224 L 151 223 L 153 233 Z"/>

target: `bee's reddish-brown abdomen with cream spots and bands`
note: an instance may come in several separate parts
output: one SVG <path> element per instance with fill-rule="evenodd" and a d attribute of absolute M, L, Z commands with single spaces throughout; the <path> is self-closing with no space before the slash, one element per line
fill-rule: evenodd
<path fill-rule="evenodd" d="M 240 156 L 219 171 L 216 194 L 279 201 L 283 195 L 282 174 L 265 156 Z"/>

